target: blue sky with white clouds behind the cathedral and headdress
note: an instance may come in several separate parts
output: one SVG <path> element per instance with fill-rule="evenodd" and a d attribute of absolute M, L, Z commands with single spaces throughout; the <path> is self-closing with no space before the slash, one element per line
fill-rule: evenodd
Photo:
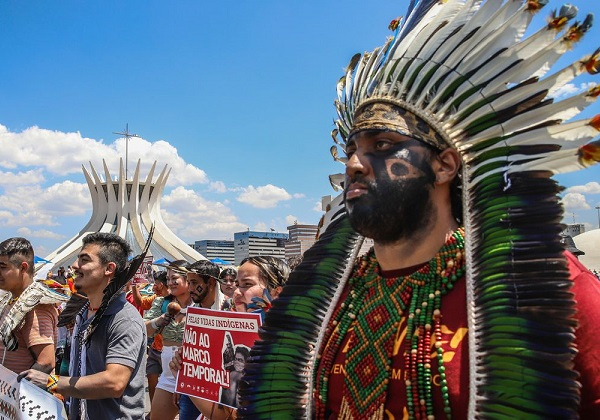
<path fill-rule="evenodd" d="M 317 223 L 343 169 L 328 151 L 335 83 L 407 3 L 1 2 L 0 238 L 28 237 L 43 256 L 79 232 L 91 215 L 82 165 L 104 158 L 116 172 L 126 124 L 140 136 L 130 168 L 172 167 L 163 218 L 187 242 Z M 581 19 L 600 9 L 585 3 Z M 598 227 L 599 174 L 558 178 L 569 223 Z"/>

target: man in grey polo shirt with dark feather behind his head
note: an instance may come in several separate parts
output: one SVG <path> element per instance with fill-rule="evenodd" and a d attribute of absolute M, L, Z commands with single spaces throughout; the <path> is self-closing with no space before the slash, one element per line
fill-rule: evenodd
<path fill-rule="evenodd" d="M 69 398 L 69 419 L 141 419 L 144 416 L 146 328 L 122 293 L 143 254 L 112 233 L 91 233 L 73 264 L 77 306 L 70 377 L 24 372 L 25 379 Z M 144 252 L 145 253 L 145 252 Z M 79 295 L 77 295 L 79 296 Z M 83 303 L 83 305 L 81 305 Z M 63 315 L 71 313 L 67 306 Z"/>

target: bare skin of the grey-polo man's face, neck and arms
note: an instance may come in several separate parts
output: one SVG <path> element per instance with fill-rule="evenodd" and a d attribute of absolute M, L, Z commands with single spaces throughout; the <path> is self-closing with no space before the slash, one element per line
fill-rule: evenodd
<path fill-rule="evenodd" d="M 100 246 L 88 244 L 84 246 L 73 264 L 77 273 L 75 286 L 78 291 L 87 294 L 90 307 L 97 308 L 102 302 L 103 290 L 116 273 L 116 264 L 108 262 L 102 264 L 98 256 Z M 89 311 L 88 315 L 94 314 Z M 123 395 L 133 369 L 116 364 L 107 363 L 106 370 L 82 377 L 61 376 L 58 380 L 56 392 L 67 397 L 99 400 L 105 398 L 119 398 Z M 48 375 L 33 369 L 26 370 L 19 375 L 33 384 L 45 389 Z"/>

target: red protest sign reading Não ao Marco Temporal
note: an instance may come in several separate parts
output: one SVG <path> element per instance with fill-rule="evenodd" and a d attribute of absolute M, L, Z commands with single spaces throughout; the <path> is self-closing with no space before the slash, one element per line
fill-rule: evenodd
<path fill-rule="evenodd" d="M 260 315 L 188 307 L 176 391 L 237 407 L 237 384 Z"/>

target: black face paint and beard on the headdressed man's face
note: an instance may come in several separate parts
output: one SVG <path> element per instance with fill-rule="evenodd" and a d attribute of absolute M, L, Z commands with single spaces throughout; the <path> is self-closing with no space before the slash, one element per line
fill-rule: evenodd
<path fill-rule="evenodd" d="M 346 180 L 346 185 L 359 182 L 368 189 L 346 203 L 352 227 L 379 243 L 411 237 L 432 217 L 430 192 L 435 175 L 430 154 L 410 147 L 413 142 L 422 148 L 423 143 L 408 140 L 381 153 L 365 154 L 374 180 L 365 181 L 360 174 Z"/>

